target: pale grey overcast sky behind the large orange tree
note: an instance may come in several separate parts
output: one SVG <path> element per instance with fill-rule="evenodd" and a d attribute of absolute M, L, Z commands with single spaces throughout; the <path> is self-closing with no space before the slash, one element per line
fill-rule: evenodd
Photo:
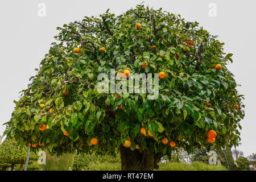
<path fill-rule="evenodd" d="M 57 35 L 57 26 L 81 20 L 84 16 L 100 15 L 107 9 L 119 15 L 142 1 L 82 0 L 8 0 L 0 2 L 0 135 L 14 110 L 14 100 L 27 88 L 40 61 L 49 51 Z M 224 52 L 233 53 L 228 69 L 245 95 L 245 118 L 241 122 L 241 143 L 245 156 L 256 152 L 255 121 L 255 45 L 256 1 L 243 0 L 154 0 L 144 1 L 154 9 L 163 7 L 189 21 L 197 21 L 212 35 L 224 42 Z M 43 4 L 40 4 L 43 3 Z M 46 11 L 40 11 L 46 6 Z M 216 10 L 216 11 L 215 11 Z M 45 16 L 44 16 L 45 15 Z"/>

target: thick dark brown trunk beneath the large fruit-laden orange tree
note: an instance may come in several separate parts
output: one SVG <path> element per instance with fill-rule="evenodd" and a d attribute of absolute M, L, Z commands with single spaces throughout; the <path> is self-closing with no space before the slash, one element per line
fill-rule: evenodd
<path fill-rule="evenodd" d="M 119 146 L 119 149 L 122 171 L 152 171 L 158 169 L 158 163 L 163 156 L 162 153 L 155 154 L 146 150 L 141 153 L 139 150 L 132 151 L 124 146 Z"/>

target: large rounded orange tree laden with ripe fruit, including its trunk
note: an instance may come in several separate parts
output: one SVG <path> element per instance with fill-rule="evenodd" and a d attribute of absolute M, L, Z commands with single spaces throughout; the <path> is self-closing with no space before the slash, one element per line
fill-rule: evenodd
<path fill-rule="evenodd" d="M 57 155 L 118 147 L 123 170 L 158 168 L 163 155 L 181 147 L 190 153 L 240 140 L 243 96 L 226 68 L 232 54 L 199 23 L 138 5 L 57 30 L 57 42 L 15 101 L 8 137 Z M 159 97 L 99 93 L 97 76 L 110 77 L 110 69 L 125 77 L 159 73 Z"/>

